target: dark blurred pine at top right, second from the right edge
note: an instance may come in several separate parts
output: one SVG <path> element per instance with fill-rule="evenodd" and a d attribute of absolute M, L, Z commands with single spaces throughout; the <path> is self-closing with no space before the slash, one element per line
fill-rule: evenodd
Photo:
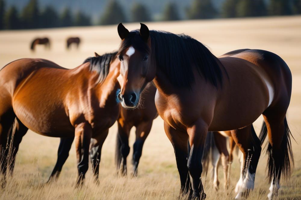
<path fill-rule="evenodd" d="M 290 1 L 288 0 L 270 0 L 269 4 L 270 15 L 290 15 L 292 10 Z"/>

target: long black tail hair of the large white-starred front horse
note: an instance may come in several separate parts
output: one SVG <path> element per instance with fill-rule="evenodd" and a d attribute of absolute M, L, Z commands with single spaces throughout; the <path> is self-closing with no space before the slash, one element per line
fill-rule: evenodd
<path fill-rule="evenodd" d="M 292 172 L 292 167 L 294 165 L 294 158 L 292 152 L 292 144 L 290 136 L 293 138 L 292 133 L 287 124 L 286 117 L 284 118 L 284 135 L 282 138 L 281 146 L 277 152 L 273 152 L 271 143 L 268 144 L 266 153 L 268 154 L 268 179 L 278 180 L 282 174 L 282 177 L 288 178 Z M 294 138 L 293 138 L 294 139 Z M 277 154 L 276 156 L 273 153 Z"/>

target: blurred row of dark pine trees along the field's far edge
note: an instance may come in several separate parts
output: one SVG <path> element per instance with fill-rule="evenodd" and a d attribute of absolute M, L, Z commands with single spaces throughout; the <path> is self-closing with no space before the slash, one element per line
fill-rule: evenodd
<path fill-rule="evenodd" d="M 301 14 L 301 0 L 225 0 L 221 9 L 214 7 L 212 0 L 191 0 L 185 8 L 185 19 L 212 19 L 220 17 L 258 17 L 273 15 Z M 160 20 L 181 20 L 177 5 L 168 2 L 163 9 Z M 99 25 L 120 22 L 152 21 L 151 13 L 141 3 L 134 3 L 127 18 L 118 0 L 110 0 L 104 13 L 98 20 Z M 65 8 L 58 13 L 52 6 L 39 8 L 38 0 L 29 0 L 21 10 L 15 6 L 5 7 L 5 0 L 0 0 L 0 29 L 36 29 L 66 26 L 90 26 L 91 17 L 82 11 L 73 13 Z"/>

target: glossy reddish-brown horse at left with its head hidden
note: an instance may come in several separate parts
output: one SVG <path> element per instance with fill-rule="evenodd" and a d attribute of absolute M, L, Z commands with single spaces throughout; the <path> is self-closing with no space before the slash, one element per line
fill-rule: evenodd
<path fill-rule="evenodd" d="M 14 159 L 28 129 L 40 135 L 75 137 L 77 186 L 82 185 L 90 157 L 98 167 L 101 146 L 119 115 L 116 92 L 120 62 L 116 52 L 90 57 L 74 69 L 45 59 L 19 59 L 0 71 L 0 144 L 5 161 L 13 137 Z M 17 123 L 14 126 L 13 123 Z M 11 128 L 13 127 L 13 128 Z M 2 162 L 5 178 L 8 163 Z M 96 170 L 95 170 L 96 171 Z"/>

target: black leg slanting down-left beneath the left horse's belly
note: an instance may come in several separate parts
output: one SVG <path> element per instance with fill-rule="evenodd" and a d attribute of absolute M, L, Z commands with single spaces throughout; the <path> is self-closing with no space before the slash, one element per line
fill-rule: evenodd
<path fill-rule="evenodd" d="M 65 162 L 69 156 L 69 151 L 71 149 L 73 140 L 74 140 L 74 137 L 61 138 L 60 145 L 57 150 L 57 162 L 56 162 L 47 182 L 50 182 L 51 180 L 56 180 L 59 177 L 59 175 L 61 174 L 63 165 L 65 164 Z"/>

